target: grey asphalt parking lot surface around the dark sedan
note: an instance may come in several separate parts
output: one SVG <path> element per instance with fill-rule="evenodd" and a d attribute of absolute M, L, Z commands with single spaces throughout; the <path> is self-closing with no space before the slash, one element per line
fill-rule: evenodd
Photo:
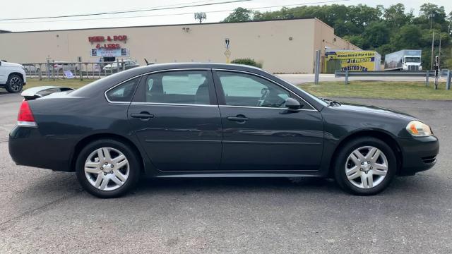
<path fill-rule="evenodd" d="M 189 179 L 101 200 L 74 174 L 13 163 L 21 99 L 0 90 L 0 253 L 452 253 L 452 102 L 345 99 L 418 116 L 440 138 L 433 169 L 380 195 L 325 179 Z"/>

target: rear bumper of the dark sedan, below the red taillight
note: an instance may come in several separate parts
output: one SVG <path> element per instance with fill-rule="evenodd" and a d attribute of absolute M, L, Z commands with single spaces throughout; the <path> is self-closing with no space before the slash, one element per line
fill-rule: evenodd
<path fill-rule="evenodd" d="M 71 171 L 70 138 L 44 137 L 38 128 L 16 126 L 9 133 L 9 155 L 18 165 Z"/>

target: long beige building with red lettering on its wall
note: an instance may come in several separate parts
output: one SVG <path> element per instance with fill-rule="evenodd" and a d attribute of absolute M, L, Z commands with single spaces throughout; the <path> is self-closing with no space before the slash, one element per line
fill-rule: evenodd
<path fill-rule="evenodd" d="M 145 64 L 251 58 L 272 73 L 313 73 L 315 52 L 359 49 L 321 20 L 293 19 L 0 33 L 0 59 L 16 63 L 133 59 Z M 107 57 L 108 56 L 108 57 Z M 322 54 L 323 56 L 323 54 Z"/>

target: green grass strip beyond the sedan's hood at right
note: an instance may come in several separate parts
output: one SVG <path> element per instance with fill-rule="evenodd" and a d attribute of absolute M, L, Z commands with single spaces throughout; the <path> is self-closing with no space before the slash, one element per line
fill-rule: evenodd
<path fill-rule="evenodd" d="M 359 97 L 381 99 L 447 99 L 452 100 L 452 90 L 445 90 L 446 83 L 428 87 L 423 82 L 343 81 L 323 82 L 319 85 L 298 85 L 303 90 L 319 97 Z"/>

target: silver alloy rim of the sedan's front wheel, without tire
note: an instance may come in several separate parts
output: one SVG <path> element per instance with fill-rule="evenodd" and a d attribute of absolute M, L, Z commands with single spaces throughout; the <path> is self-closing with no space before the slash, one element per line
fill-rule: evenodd
<path fill-rule="evenodd" d="M 348 181 L 358 188 L 379 186 L 388 174 L 388 159 L 381 150 L 372 146 L 359 147 L 345 162 Z"/>

